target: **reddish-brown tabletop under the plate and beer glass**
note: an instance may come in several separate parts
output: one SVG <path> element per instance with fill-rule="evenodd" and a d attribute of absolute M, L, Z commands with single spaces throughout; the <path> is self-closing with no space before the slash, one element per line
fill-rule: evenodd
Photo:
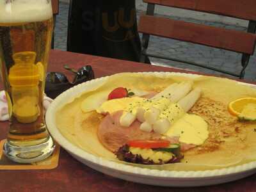
<path fill-rule="evenodd" d="M 51 51 L 49 71 L 65 72 L 67 76 L 71 77 L 72 73 L 63 69 L 63 65 L 66 64 L 73 68 L 90 64 L 96 77 L 117 72 L 184 72 L 174 68 L 156 67 L 131 61 L 113 60 L 58 50 Z M 8 122 L 1 122 L 0 127 L 0 139 L 3 139 L 8 131 Z M 0 191 L 256 191 L 256 175 L 215 186 L 163 188 L 136 184 L 104 175 L 79 163 L 61 149 L 59 166 L 54 170 L 1 170 Z"/>

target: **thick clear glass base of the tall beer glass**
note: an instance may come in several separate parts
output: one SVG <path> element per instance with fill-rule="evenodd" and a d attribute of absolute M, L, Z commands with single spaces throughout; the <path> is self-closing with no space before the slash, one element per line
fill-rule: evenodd
<path fill-rule="evenodd" d="M 49 140 L 38 145 L 31 146 L 16 146 L 8 143 L 4 143 L 4 154 L 8 159 L 17 163 L 35 163 L 42 161 L 51 156 L 54 151 L 55 143 L 49 136 Z"/>

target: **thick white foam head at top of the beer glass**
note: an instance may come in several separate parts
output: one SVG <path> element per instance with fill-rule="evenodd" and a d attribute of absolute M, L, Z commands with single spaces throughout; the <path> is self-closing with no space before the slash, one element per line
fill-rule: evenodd
<path fill-rule="evenodd" d="M 9 0 L 7 2 L 9 3 L 6 3 L 6 0 L 0 0 L 0 24 L 36 22 L 52 17 L 49 0 Z"/>

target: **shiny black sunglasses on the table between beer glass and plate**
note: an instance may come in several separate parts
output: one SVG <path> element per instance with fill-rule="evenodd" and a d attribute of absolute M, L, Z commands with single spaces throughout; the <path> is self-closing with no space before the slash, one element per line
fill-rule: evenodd
<path fill-rule="evenodd" d="M 55 99 L 60 93 L 65 92 L 72 86 L 94 79 L 94 72 L 90 65 L 79 68 L 79 70 L 74 70 L 67 65 L 64 68 L 75 74 L 72 82 L 69 82 L 67 76 L 61 72 L 48 72 L 46 74 L 45 93 L 52 99 Z"/>

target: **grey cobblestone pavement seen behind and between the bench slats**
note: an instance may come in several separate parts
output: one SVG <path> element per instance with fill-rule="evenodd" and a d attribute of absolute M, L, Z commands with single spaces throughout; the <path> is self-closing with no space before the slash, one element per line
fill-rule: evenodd
<path fill-rule="evenodd" d="M 138 11 L 140 15 L 141 11 Z M 57 23 L 55 28 L 55 49 L 66 50 L 67 44 L 67 18 L 68 18 L 68 4 L 60 3 L 60 15 L 57 17 Z M 218 22 L 207 22 L 202 20 L 184 19 L 180 17 L 171 17 L 176 20 L 185 20 L 188 22 L 206 24 L 209 26 L 222 27 L 226 29 L 236 29 L 240 31 L 246 30 L 241 26 L 230 26 L 227 24 L 221 24 Z M 187 42 L 180 42 L 178 40 L 172 40 L 168 38 L 162 38 L 157 36 L 150 37 L 150 43 L 148 46 L 148 53 L 158 54 L 163 56 L 170 56 L 173 58 L 181 58 L 183 60 L 196 61 L 205 65 L 211 65 L 212 67 L 221 68 L 222 70 L 228 70 L 230 72 L 239 73 L 241 70 L 241 54 L 231 51 L 225 51 L 221 49 L 214 49 L 204 45 L 196 45 Z M 220 74 L 207 70 L 205 68 L 195 67 L 192 65 L 186 65 L 184 63 L 178 63 L 175 61 L 161 60 L 157 58 L 150 58 L 150 61 L 154 65 L 162 65 L 167 67 L 186 68 L 189 70 L 195 70 L 198 72 L 206 72 L 211 74 Z M 256 80 L 256 56 L 252 56 L 250 63 L 246 68 L 245 79 Z"/>

